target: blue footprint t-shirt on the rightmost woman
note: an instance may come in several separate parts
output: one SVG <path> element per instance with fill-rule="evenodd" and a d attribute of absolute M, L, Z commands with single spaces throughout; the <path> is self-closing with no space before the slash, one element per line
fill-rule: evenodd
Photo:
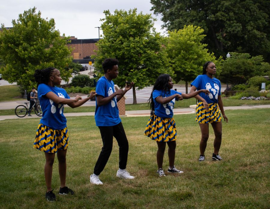
<path fill-rule="evenodd" d="M 208 104 L 218 102 L 217 96 L 220 95 L 221 88 L 221 84 L 218 79 L 209 78 L 206 74 L 198 75 L 190 85 L 195 86 L 197 90 L 208 89 L 210 91 L 210 94 L 208 95 L 205 95 L 203 92 L 199 93 L 199 95 L 204 98 Z"/>

